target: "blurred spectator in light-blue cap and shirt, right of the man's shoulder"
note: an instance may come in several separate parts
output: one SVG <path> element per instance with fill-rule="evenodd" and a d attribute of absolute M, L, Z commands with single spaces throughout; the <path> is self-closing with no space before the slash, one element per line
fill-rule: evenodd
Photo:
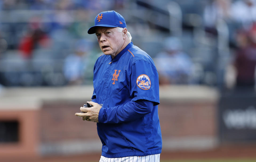
<path fill-rule="evenodd" d="M 192 63 L 190 57 L 182 52 L 182 44 L 178 38 L 169 37 L 164 41 L 164 49 L 154 59 L 159 84 L 188 84 Z"/>

